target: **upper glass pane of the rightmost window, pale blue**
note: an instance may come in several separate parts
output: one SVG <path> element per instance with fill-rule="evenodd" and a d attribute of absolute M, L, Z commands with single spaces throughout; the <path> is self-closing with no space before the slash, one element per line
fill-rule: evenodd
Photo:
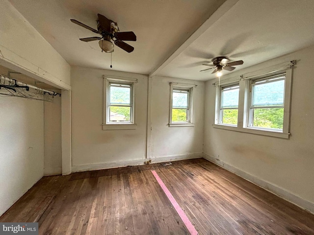
<path fill-rule="evenodd" d="M 283 105 L 285 80 L 254 85 L 253 106 Z"/>

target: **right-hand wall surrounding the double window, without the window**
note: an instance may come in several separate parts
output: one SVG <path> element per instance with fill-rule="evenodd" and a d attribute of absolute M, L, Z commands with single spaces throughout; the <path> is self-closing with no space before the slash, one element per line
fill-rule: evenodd
<path fill-rule="evenodd" d="M 311 66 L 314 47 L 237 71 L 232 77 L 290 60 L 297 60 L 293 69 L 290 138 L 213 128 L 215 89 L 213 81 L 209 81 L 206 83 L 204 153 L 211 161 L 314 211 L 314 67 Z"/>

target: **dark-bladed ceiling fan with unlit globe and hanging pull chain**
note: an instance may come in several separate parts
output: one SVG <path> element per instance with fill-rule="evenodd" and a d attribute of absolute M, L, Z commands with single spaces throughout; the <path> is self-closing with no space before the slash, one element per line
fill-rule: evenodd
<path fill-rule="evenodd" d="M 80 41 L 83 42 L 90 42 L 90 41 L 96 41 L 99 40 L 99 46 L 102 49 L 102 51 L 111 53 L 113 52 L 113 44 L 111 40 L 114 42 L 114 44 L 117 47 L 120 47 L 121 49 L 132 52 L 134 50 L 134 47 L 131 45 L 123 42 L 123 41 L 136 41 L 136 35 L 132 32 L 119 32 L 119 27 L 116 22 L 113 22 L 109 19 L 107 19 L 105 16 L 98 14 L 98 25 L 97 29 L 94 29 L 92 27 L 87 26 L 86 24 L 80 23 L 77 20 L 71 19 L 71 22 L 78 24 L 84 28 L 89 29 L 90 31 L 94 33 L 98 33 L 102 35 L 102 37 L 89 37 L 89 38 L 80 38 Z"/>

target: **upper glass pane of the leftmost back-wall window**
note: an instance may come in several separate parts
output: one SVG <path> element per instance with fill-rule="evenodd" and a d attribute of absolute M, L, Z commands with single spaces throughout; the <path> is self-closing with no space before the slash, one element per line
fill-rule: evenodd
<path fill-rule="evenodd" d="M 110 86 L 110 104 L 130 104 L 131 87 L 126 86 Z"/>

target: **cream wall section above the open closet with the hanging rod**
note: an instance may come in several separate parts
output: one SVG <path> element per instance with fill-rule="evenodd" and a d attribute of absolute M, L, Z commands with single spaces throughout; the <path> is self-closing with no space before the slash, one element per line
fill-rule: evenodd
<path fill-rule="evenodd" d="M 69 64 L 7 0 L 0 6 L 0 64 L 70 89 Z"/>

